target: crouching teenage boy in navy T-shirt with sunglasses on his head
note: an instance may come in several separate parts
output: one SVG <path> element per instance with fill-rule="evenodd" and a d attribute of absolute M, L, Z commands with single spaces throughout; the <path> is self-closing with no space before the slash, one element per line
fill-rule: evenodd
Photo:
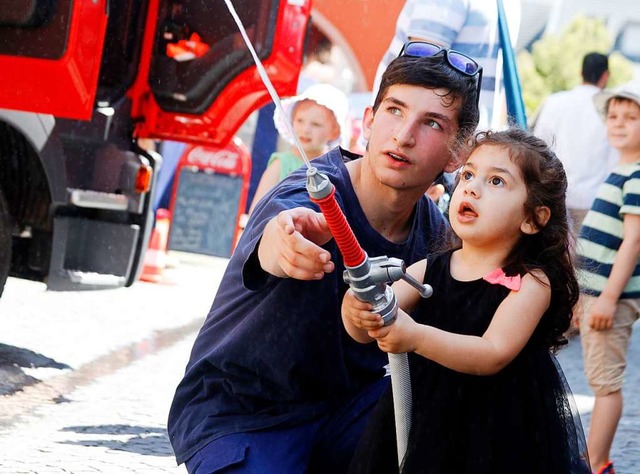
<path fill-rule="evenodd" d="M 455 51 L 407 44 L 365 111 L 364 156 L 313 161 L 369 257 L 411 264 L 446 237 L 424 193 L 464 159 L 479 73 Z M 344 472 L 388 384 L 386 354 L 344 330 L 342 258 L 305 185 L 296 171 L 255 208 L 195 341 L 168 422 L 190 473 Z"/>

